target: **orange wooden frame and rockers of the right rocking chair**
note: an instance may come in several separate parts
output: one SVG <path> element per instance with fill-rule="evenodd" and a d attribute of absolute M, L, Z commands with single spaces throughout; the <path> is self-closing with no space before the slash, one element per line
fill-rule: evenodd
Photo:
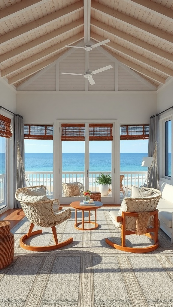
<path fill-rule="evenodd" d="M 155 211 L 150 212 L 150 216 L 154 215 L 154 227 L 153 228 L 147 228 L 145 235 L 151 239 L 153 239 L 154 244 L 149 246 L 149 247 L 127 247 L 126 246 L 126 235 L 134 235 L 136 234 L 136 231 L 130 231 L 126 230 L 126 216 L 134 216 L 138 217 L 137 212 L 122 212 L 122 216 L 117 216 L 117 222 L 120 223 L 122 222 L 122 228 L 121 228 L 121 245 L 115 244 L 109 239 L 105 239 L 106 243 L 109 244 L 110 246 L 121 250 L 121 251 L 127 251 L 131 253 L 148 253 L 150 251 L 154 251 L 156 248 L 159 246 L 159 241 L 158 241 L 158 209 Z M 154 235 L 151 234 L 151 232 L 154 232 Z"/>

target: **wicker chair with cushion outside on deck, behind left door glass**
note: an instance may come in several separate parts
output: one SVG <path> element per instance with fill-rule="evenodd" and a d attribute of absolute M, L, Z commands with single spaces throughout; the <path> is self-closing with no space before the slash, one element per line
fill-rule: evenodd
<path fill-rule="evenodd" d="M 81 182 L 62 182 L 62 191 L 65 197 L 83 197 L 84 186 Z"/>

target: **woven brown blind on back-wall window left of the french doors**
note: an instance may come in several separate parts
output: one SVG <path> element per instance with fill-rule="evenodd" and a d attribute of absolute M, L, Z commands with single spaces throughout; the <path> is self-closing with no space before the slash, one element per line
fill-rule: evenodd
<path fill-rule="evenodd" d="M 24 138 L 29 140 L 53 140 L 53 126 L 24 125 Z"/>

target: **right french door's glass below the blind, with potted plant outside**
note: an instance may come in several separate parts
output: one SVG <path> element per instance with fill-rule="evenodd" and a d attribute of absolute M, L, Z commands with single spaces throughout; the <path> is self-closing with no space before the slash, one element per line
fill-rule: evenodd
<path fill-rule="evenodd" d="M 112 176 L 112 141 L 89 141 L 89 188 L 99 191 L 97 180 L 99 175 Z M 103 202 L 108 198 L 112 201 L 112 185 L 108 185 L 106 195 L 102 195 Z"/>

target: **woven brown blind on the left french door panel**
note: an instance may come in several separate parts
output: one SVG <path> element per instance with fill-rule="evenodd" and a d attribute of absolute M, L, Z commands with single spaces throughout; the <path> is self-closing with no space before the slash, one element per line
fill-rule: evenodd
<path fill-rule="evenodd" d="M 61 141 L 85 141 L 85 124 L 61 124 Z"/>

